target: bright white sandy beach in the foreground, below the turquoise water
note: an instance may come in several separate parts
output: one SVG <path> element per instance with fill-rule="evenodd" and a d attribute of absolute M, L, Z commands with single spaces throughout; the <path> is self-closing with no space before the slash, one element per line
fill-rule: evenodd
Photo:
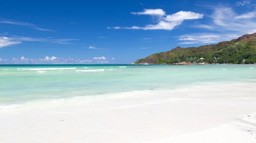
<path fill-rule="evenodd" d="M 254 143 L 255 87 L 148 90 L 1 109 L 0 143 Z"/>

